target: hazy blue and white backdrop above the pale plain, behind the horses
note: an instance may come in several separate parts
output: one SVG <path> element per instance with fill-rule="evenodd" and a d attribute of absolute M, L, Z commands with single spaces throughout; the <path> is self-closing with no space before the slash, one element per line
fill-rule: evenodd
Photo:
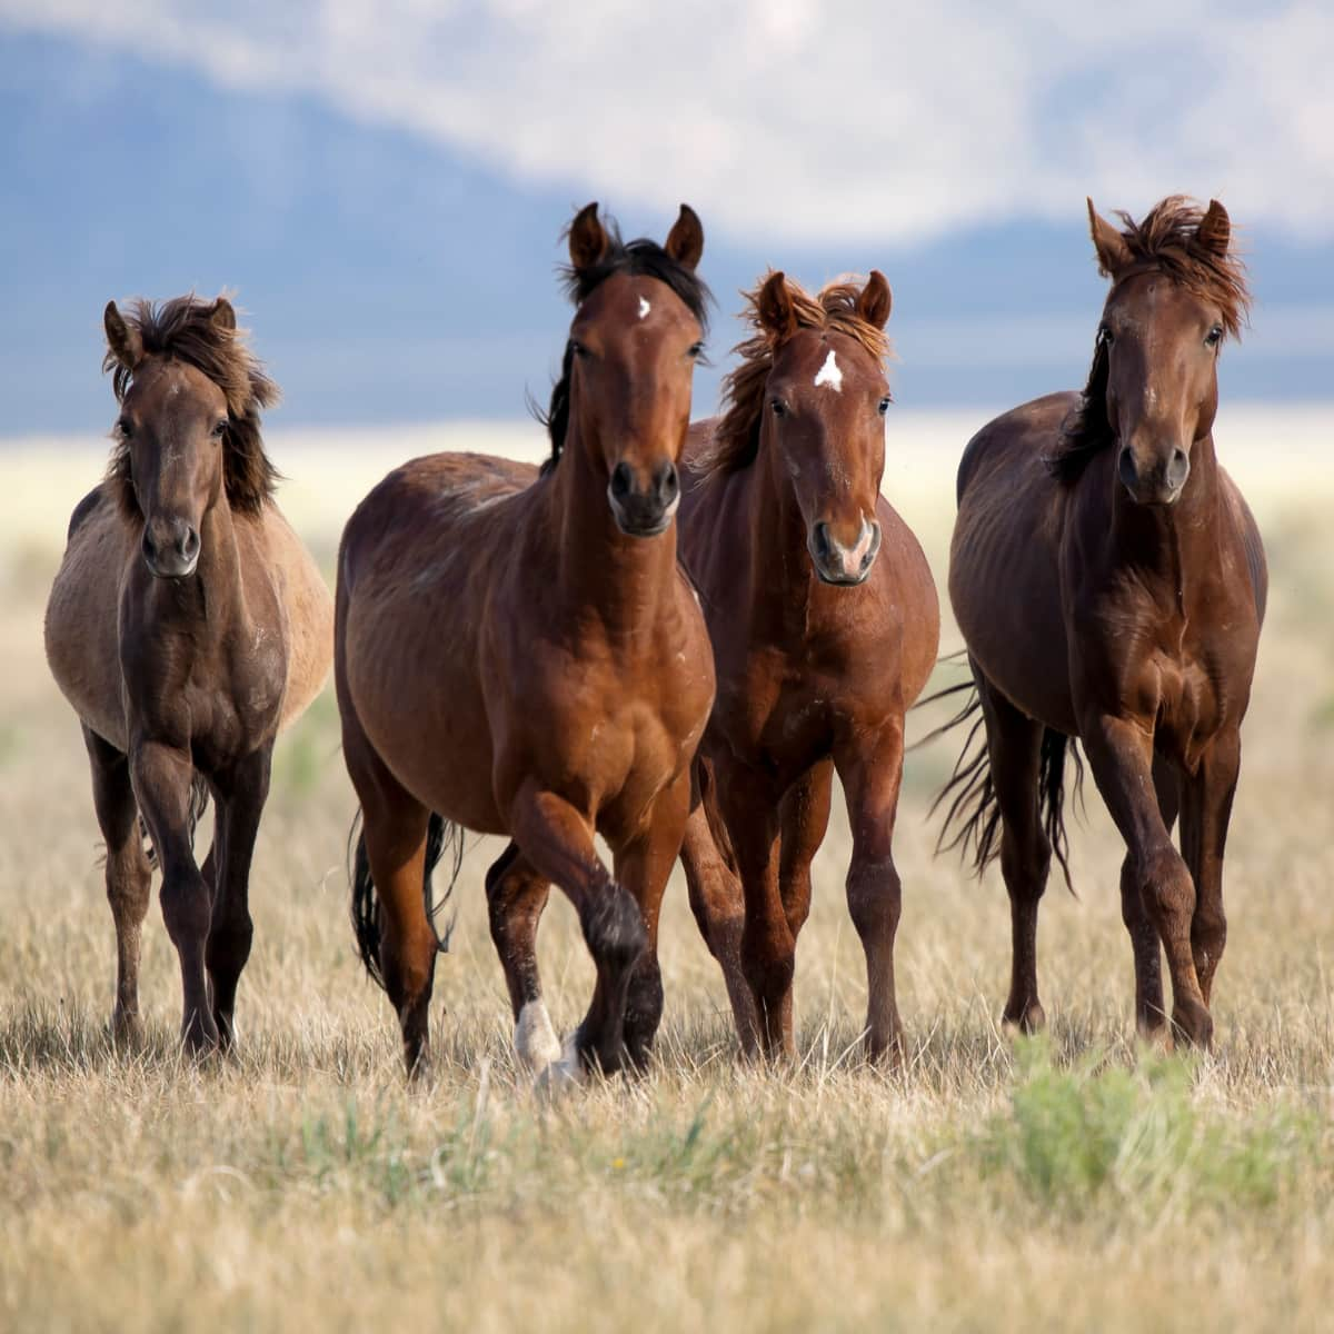
<path fill-rule="evenodd" d="M 104 426 L 101 305 L 192 285 L 237 291 L 284 420 L 518 415 L 591 197 L 631 233 L 699 209 L 719 368 L 768 264 L 876 265 L 899 400 L 1005 406 L 1086 368 L 1086 193 L 1217 195 L 1258 295 L 1225 394 L 1329 396 L 1331 15 L 0 0 L 0 432 Z"/>

